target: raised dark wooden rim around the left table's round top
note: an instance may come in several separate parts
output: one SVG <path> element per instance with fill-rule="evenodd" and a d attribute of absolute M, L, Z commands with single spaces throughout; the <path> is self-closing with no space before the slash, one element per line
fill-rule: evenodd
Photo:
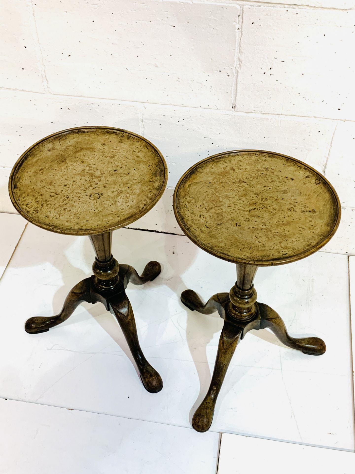
<path fill-rule="evenodd" d="M 108 129 L 108 130 L 118 130 L 120 132 L 123 132 L 123 133 L 127 133 L 129 135 L 133 135 L 134 137 L 138 137 L 140 138 L 141 140 L 143 140 L 144 142 L 146 142 L 149 146 L 151 146 L 151 148 L 153 148 L 153 150 L 159 155 L 160 157 L 160 160 L 163 164 L 163 168 L 164 168 L 164 180 L 163 180 L 163 183 L 161 185 L 161 188 L 160 188 L 160 191 L 157 193 L 157 195 L 155 196 L 155 198 L 149 203 L 148 206 L 146 206 L 144 209 L 142 209 L 140 212 L 138 212 L 137 214 L 134 215 L 134 219 L 126 219 L 122 224 L 120 224 L 119 226 L 114 226 L 114 227 L 110 227 L 110 228 L 104 228 L 104 229 L 98 229 L 98 230 L 95 230 L 93 232 L 90 231 L 90 233 L 88 233 L 87 230 L 85 229 L 81 229 L 81 230 L 78 230 L 76 231 L 75 233 L 73 232 L 67 232 L 67 231 L 63 231 L 63 230 L 60 230 L 58 228 L 53 228 L 51 226 L 46 226 L 46 225 L 39 225 L 37 222 L 35 222 L 34 219 L 31 219 L 30 216 L 28 216 L 26 214 L 26 212 L 24 212 L 21 208 L 19 208 L 19 206 L 17 205 L 17 202 L 14 198 L 14 195 L 13 195 L 13 191 L 12 191 L 12 180 L 13 180 L 13 176 L 14 174 L 16 173 L 17 171 L 17 168 L 18 168 L 18 165 L 21 163 L 22 159 L 24 158 L 24 156 L 26 156 L 26 154 L 32 149 L 34 148 L 36 145 L 38 145 L 39 143 L 43 142 L 44 140 L 47 140 L 48 138 L 52 138 L 52 137 L 55 137 L 56 135 L 61 135 L 61 134 L 65 134 L 65 133 L 69 133 L 73 130 L 83 130 L 83 129 L 97 129 L 97 128 L 105 128 L 105 129 Z M 165 162 L 165 158 L 164 156 L 162 155 L 162 153 L 160 152 L 160 150 L 155 146 L 153 145 L 149 140 L 147 140 L 147 138 L 145 137 L 142 137 L 142 135 L 138 135 L 138 133 L 134 133 L 134 132 L 131 132 L 129 130 L 125 130 L 124 128 L 116 128 L 116 127 L 106 127 L 106 126 L 102 126 L 102 125 L 88 125 L 88 126 L 84 126 L 84 127 L 72 127 L 72 128 L 65 128 L 64 130 L 60 130 L 59 132 L 55 132 L 55 133 L 51 133 L 50 135 L 47 135 L 46 137 L 44 138 L 41 138 L 40 140 L 38 140 L 37 142 L 35 142 L 33 145 L 29 146 L 27 148 L 27 150 L 25 150 L 22 155 L 18 158 L 18 160 L 16 161 L 16 163 L 14 164 L 14 166 L 12 167 L 12 170 L 11 170 L 11 173 L 10 173 L 10 176 L 9 176 L 9 185 L 8 185 L 8 188 L 9 188 L 9 196 L 10 196 L 10 200 L 12 202 L 12 205 L 14 206 L 14 208 L 18 211 L 18 213 L 23 217 L 25 218 L 26 220 L 28 220 L 28 222 L 31 222 L 31 224 L 34 224 L 35 226 L 37 227 L 40 227 L 40 228 L 43 228 L 45 230 L 50 230 L 51 232 L 55 232 L 56 234 L 64 234 L 64 235 L 76 235 L 76 236 L 87 236 L 87 235 L 96 235 L 96 234 L 102 234 L 104 232 L 111 232 L 113 230 L 116 230 L 116 229 L 120 229 L 120 228 L 123 228 L 125 226 L 128 226 L 129 224 L 132 224 L 133 222 L 135 222 L 136 220 L 140 219 L 142 216 L 144 216 L 148 211 L 150 211 L 154 206 L 155 204 L 160 200 L 163 192 L 165 191 L 165 188 L 167 186 L 167 182 L 168 182 L 168 166 Z"/>

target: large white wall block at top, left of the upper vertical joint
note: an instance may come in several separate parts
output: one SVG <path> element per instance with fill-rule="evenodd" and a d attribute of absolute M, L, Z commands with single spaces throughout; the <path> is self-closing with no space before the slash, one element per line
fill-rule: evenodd
<path fill-rule="evenodd" d="M 48 87 L 231 109 L 239 12 L 237 4 L 36 0 Z"/>

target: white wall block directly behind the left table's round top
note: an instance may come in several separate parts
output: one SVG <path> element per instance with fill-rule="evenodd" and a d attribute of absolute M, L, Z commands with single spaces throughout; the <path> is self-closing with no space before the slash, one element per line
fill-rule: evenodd
<path fill-rule="evenodd" d="M 37 140 L 64 128 L 107 125 L 142 133 L 143 106 L 82 97 L 0 90 L 0 164 L 12 166 Z"/>

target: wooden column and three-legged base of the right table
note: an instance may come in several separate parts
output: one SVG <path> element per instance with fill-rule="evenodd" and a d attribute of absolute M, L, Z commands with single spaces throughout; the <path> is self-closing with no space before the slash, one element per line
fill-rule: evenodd
<path fill-rule="evenodd" d="M 231 358 L 239 341 L 251 329 L 269 328 L 285 346 L 304 354 L 320 356 L 326 351 L 326 345 L 319 337 L 291 337 L 276 311 L 264 303 L 257 303 L 257 292 L 253 285 L 256 271 L 256 266 L 237 264 L 237 282 L 231 292 L 217 293 L 206 304 L 193 290 L 181 293 L 181 301 L 190 310 L 202 314 L 218 311 L 224 319 L 211 384 L 192 419 L 192 426 L 196 431 L 204 432 L 210 428 L 214 407 Z"/>

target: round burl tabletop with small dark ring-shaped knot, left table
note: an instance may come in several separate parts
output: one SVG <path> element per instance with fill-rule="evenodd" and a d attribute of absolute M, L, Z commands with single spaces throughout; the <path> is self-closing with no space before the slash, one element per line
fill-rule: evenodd
<path fill-rule="evenodd" d="M 11 171 L 9 194 L 36 226 L 92 235 L 142 217 L 167 179 L 163 156 L 145 138 L 121 128 L 78 127 L 30 146 Z"/>

